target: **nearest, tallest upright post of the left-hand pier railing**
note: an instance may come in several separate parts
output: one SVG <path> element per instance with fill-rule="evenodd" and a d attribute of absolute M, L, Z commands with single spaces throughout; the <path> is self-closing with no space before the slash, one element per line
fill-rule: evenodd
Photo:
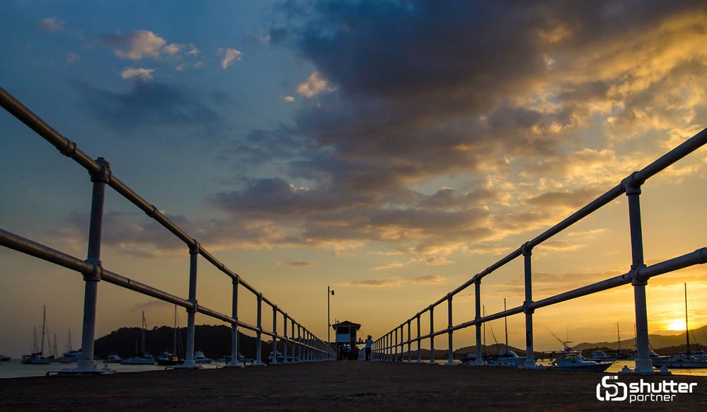
<path fill-rule="evenodd" d="M 91 174 L 93 192 L 91 193 L 91 220 L 88 223 L 88 253 L 86 261 L 94 265 L 91 273 L 84 273 L 84 324 L 81 329 L 81 359 L 76 370 L 96 369 L 93 360 L 93 338 L 96 335 L 96 302 L 98 300 L 98 282 L 103 271 L 100 266 L 100 235 L 103 230 L 103 203 L 105 184 L 110 180 L 110 163 L 104 158 L 96 160 L 101 165 L 99 173 Z"/>

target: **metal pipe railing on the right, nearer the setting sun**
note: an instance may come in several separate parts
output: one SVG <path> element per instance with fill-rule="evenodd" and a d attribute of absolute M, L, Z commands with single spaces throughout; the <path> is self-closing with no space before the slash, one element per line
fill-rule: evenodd
<path fill-rule="evenodd" d="M 636 369 L 634 372 L 640 374 L 650 374 L 653 373 L 653 362 L 649 357 L 649 346 L 648 346 L 648 316 L 646 314 L 645 305 L 645 286 L 648 283 L 648 279 L 653 276 L 658 276 L 663 273 L 668 273 L 671 271 L 676 271 L 678 269 L 683 269 L 688 266 L 693 266 L 696 264 L 707 263 L 707 248 L 703 247 L 697 249 L 694 252 L 684 254 L 674 259 L 669 259 L 663 261 L 659 264 L 654 264 L 651 266 L 645 266 L 643 263 L 643 235 L 641 233 L 641 220 L 640 220 L 640 203 L 639 195 L 641 185 L 650 177 L 653 177 L 657 173 L 664 170 L 669 165 L 677 162 L 677 160 L 684 158 L 689 153 L 696 151 L 698 148 L 707 143 L 707 129 L 703 129 L 698 134 L 692 136 L 690 139 L 684 141 L 682 144 L 672 149 L 665 155 L 662 155 L 659 159 L 655 160 L 650 165 L 644 167 L 638 172 L 633 172 L 631 175 L 623 179 L 615 187 L 611 188 L 609 192 L 602 194 L 594 201 L 587 204 L 583 208 L 570 215 L 565 220 L 557 223 L 553 227 L 541 233 L 533 240 L 525 242 L 523 245 L 515 249 L 513 252 L 508 254 L 506 257 L 500 259 L 495 264 L 492 264 L 481 273 L 477 273 L 475 276 L 466 281 L 464 284 L 458 288 L 452 290 L 452 292 L 447 293 L 446 296 L 440 298 L 432 305 L 425 307 L 425 309 L 420 310 L 417 314 L 405 322 L 396 326 L 396 328 L 391 329 L 388 333 L 384 334 L 380 339 L 374 342 L 374 359 L 375 360 L 386 360 L 386 361 L 398 361 L 405 360 L 405 345 L 408 346 L 407 360 L 412 362 L 412 351 L 411 343 L 417 343 L 417 362 L 423 363 L 421 358 L 421 346 L 420 342 L 423 339 L 430 339 L 430 363 L 435 363 L 435 336 L 447 334 L 449 340 L 448 348 L 448 360 L 447 364 L 452 365 L 454 363 L 454 353 L 453 353 L 453 333 L 456 330 L 464 329 L 469 326 L 476 326 L 476 360 L 475 365 L 483 365 L 484 361 L 482 358 L 482 347 L 481 347 L 481 325 L 484 322 L 489 322 L 494 319 L 502 319 L 503 317 L 511 316 L 513 314 L 524 313 L 525 314 L 525 329 L 526 329 L 526 360 L 524 367 L 536 367 L 535 360 L 533 357 L 533 312 L 541 307 L 546 307 L 550 305 L 555 305 L 556 303 L 565 302 L 566 300 L 572 300 L 575 298 L 580 298 L 581 296 L 590 295 L 592 293 L 597 293 L 602 290 L 607 290 L 610 288 L 616 288 L 617 286 L 626 285 L 631 283 L 633 286 L 633 295 L 636 311 L 636 351 L 638 353 L 638 358 L 636 359 Z M 532 293 L 532 271 L 531 271 L 531 256 L 532 250 L 537 245 L 541 245 L 542 242 L 550 239 L 554 235 L 561 233 L 566 228 L 577 223 L 582 218 L 589 216 L 594 211 L 599 210 L 602 206 L 609 204 L 621 194 L 625 193 L 628 196 L 628 221 L 630 225 L 630 235 L 631 235 L 631 270 L 624 273 L 621 276 L 615 276 L 613 278 L 606 279 L 597 283 L 592 283 L 589 286 L 584 286 L 582 288 L 577 288 L 570 290 L 565 293 L 560 293 L 558 295 L 551 296 L 550 298 L 545 298 L 533 301 Z M 481 280 L 493 273 L 493 271 L 499 269 L 505 264 L 510 263 L 517 257 L 523 257 L 524 259 L 524 286 L 525 286 L 525 300 L 523 305 L 519 307 L 514 307 L 512 309 L 504 310 L 495 314 L 490 314 L 487 316 L 481 316 Z M 469 286 L 474 286 L 474 296 L 475 296 L 475 312 L 476 316 L 473 320 L 469 322 L 464 322 L 461 324 L 454 325 L 452 323 L 452 298 L 454 295 L 460 293 L 462 290 L 468 288 Z M 447 312 L 449 314 L 449 322 L 447 328 L 435 331 L 434 324 L 434 311 L 435 307 L 441 305 L 443 302 L 447 301 Z M 426 312 L 430 313 L 430 333 L 426 335 L 420 334 L 420 317 Z M 415 321 L 417 322 L 417 336 L 412 337 L 410 334 L 410 324 Z M 407 325 L 408 336 L 407 339 L 403 336 L 403 326 Z M 398 334 L 398 330 L 400 334 Z M 399 352 L 398 353 L 398 349 Z"/>

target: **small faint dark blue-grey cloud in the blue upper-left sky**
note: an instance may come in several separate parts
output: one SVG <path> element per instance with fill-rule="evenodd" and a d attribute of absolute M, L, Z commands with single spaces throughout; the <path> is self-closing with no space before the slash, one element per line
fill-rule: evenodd
<path fill-rule="evenodd" d="M 152 81 L 132 81 L 127 93 L 94 88 L 88 83 L 75 83 L 88 110 L 122 136 L 146 129 L 199 128 L 202 139 L 219 133 L 221 116 L 212 105 L 223 100 L 222 95 L 202 98 L 179 86 Z"/>

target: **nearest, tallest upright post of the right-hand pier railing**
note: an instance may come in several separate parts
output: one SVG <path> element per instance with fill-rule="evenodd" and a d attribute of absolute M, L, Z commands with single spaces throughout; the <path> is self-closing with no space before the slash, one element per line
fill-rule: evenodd
<path fill-rule="evenodd" d="M 628 223 L 631 226 L 631 285 L 633 301 L 636 307 L 636 370 L 634 372 L 653 375 L 653 360 L 648 352 L 648 314 L 645 307 L 645 279 L 638 276 L 638 271 L 645 268 L 643 263 L 643 233 L 640 227 L 640 186 L 636 172 L 621 182 L 628 196 Z"/>

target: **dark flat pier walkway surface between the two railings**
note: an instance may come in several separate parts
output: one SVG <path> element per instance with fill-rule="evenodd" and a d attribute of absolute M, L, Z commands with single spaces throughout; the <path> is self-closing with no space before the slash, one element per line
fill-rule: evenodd
<path fill-rule="evenodd" d="M 598 401 L 604 374 L 326 362 L 218 370 L 170 370 L 98 377 L 0 380 L 0 410 L 469 410 L 707 411 L 707 377 L 643 377 L 697 382 L 672 402 Z M 620 377 L 638 382 L 641 377 Z"/>

